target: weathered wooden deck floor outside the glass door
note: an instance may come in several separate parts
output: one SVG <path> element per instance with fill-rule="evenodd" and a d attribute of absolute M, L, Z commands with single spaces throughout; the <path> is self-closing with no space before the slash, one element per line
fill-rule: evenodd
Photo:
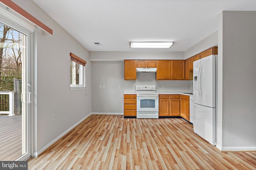
<path fill-rule="evenodd" d="M 0 115 L 0 160 L 22 155 L 22 115 Z"/>

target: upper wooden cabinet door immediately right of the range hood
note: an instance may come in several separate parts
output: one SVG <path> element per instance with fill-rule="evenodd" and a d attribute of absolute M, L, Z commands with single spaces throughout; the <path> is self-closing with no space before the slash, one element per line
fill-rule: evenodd
<path fill-rule="evenodd" d="M 170 80 L 171 79 L 171 61 L 158 60 L 156 64 L 156 80 Z"/>

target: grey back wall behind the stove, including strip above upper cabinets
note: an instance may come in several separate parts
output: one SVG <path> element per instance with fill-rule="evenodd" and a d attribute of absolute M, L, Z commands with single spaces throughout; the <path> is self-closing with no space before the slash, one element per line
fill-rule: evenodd
<path fill-rule="evenodd" d="M 124 90 L 136 85 L 156 85 L 157 90 L 191 92 L 191 80 L 156 80 L 154 72 L 138 72 L 137 79 L 124 80 L 124 59 L 184 59 L 183 52 L 96 52 L 90 51 L 92 61 L 92 112 L 123 113 Z M 116 61 L 107 61 L 108 59 Z M 100 61 L 98 61 L 100 60 Z M 106 61 L 101 61 L 106 60 Z M 100 85 L 105 88 L 100 89 Z M 118 86 L 121 88 L 118 89 Z"/>

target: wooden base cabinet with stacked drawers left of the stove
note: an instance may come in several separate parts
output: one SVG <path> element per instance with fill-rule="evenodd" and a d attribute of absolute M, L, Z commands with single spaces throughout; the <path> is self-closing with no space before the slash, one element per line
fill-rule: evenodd
<path fill-rule="evenodd" d="M 137 115 L 136 94 L 124 94 L 124 116 Z"/>

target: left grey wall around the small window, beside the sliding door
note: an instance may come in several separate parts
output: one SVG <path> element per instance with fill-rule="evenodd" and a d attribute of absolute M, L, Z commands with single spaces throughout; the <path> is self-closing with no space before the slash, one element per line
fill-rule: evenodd
<path fill-rule="evenodd" d="M 88 51 L 50 18 L 32 0 L 13 0 L 24 10 L 53 29 L 52 36 L 37 30 L 37 139 L 34 152 L 40 154 L 50 143 L 92 112 L 91 62 Z M 85 90 L 70 90 L 70 56 L 87 61 Z M 52 113 L 55 119 L 52 121 Z"/>

